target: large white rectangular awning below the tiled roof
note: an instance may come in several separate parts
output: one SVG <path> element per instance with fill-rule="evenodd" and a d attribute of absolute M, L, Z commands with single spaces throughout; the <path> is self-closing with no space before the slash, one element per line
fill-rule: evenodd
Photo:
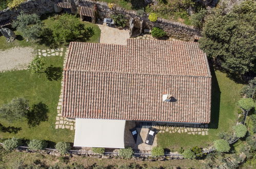
<path fill-rule="evenodd" d="M 125 120 L 75 119 L 74 146 L 124 148 Z"/>

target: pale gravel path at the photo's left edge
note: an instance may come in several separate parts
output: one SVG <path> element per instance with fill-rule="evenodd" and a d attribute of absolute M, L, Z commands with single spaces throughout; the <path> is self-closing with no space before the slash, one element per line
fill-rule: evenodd
<path fill-rule="evenodd" d="M 30 47 L 0 50 L 0 72 L 27 68 L 33 59 L 33 51 Z"/>

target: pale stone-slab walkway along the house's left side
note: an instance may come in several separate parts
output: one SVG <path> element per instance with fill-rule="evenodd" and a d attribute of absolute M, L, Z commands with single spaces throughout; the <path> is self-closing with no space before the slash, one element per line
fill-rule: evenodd
<path fill-rule="evenodd" d="M 61 50 L 61 52 L 65 53 L 65 55 L 64 55 L 64 63 L 63 63 L 63 67 L 64 67 L 65 62 L 66 62 L 66 58 L 67 58 L 67 54 L 68 54 L 68 48 L 66 50 L 63 50 L 61 48 L 60 50 Z M 47 52 L 47 54 L 48 54 L 48 52 Z M 51 53 L 51 54 L 54 54 L 54 52 Z M 55 52 L 55 54 L 56 54 L 56 52 Z M 75 119 L 69 119 L 69 118 L 66 118 L 66 117 L 62 117 L 62 114 L 61 114 L 62 101 L 63 101 L 63 81 L 62 81 L 60 98 L 58 100 L 58 106 L 57 106 L 57 113 L 58 114 L 57 114 L 57 117 L 56 117 L 55 129 L 75 130 Z"/>

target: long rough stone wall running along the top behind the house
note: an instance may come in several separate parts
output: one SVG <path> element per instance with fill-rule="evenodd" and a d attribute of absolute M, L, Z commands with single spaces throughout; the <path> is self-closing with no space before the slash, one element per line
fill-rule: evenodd
<path fill-rule="evenodd" d="M 134 27 L 141 29 L 141 24 L 143 28 L 151 29 L 152 27 L 160 27 L 164 29 L 167 34 L 171 37 L 178 38 L 181 40 L 194 40 L 194 36 L 201 36 L 200 32 L 194 29 L 192 26 L 187 26 L 178 22 L 172 22 L 170 20 L 159 18 L 156 22 L 152 23 L 148 19 L 148 15 L 144 16 L 136 15 L 135 11 L 127 11 L 120 7 L 114 7 L 112 9 L 108 8 L 107 3 L 86 1 L 86 0 L 69 0 L 72 4 L 72 11 L 78 13 L 79 6 L 92 7 L 94 4 L 97 6 L 98 19 L 103 20 L 104 17 L 109 17 L 113 13 L 122 13 L 126 16 L 128 20 L 134 19 Z M 58 0 L 29 0 L 26 3 L 21 4 L 18 9 L 6 9 L 0 11 L 0 20 L 5 19 L 15 19 L 19 12 L 24 11 L 25 13 L 36 13 L 42 15 L 45 13 L 54 12 L 54 4 L 59 2 Z M 127 23 L 128 24 L 128 23 Z M 128 26 L 128 25 L 127 25 Z"/>

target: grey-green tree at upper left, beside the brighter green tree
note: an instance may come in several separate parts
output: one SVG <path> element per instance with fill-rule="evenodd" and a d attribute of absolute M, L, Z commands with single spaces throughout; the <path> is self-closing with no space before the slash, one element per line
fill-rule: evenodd
<path fill-rule="evenodd" d="M 36 40 L 40 36 L 43 24 L 36 14 L 25 14 L 23 11 L 13 21 L 12 27 L 16 28 L 29 40 Z"/>

